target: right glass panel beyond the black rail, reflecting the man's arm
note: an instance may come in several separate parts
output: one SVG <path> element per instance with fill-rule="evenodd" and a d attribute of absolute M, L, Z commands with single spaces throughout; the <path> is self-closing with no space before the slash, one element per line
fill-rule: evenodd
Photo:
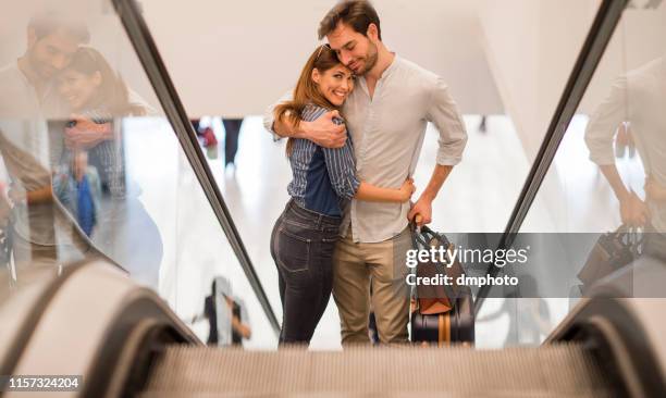
<path fill-rule="evenodd" d="M 550 299 L 552 324 L 602 276 L 666 258 L 665 55 L 666 7 L 630 2 L 521 228 L 559 233 L 565 256 L 542 268 L 568 279 L 571 298 Z M 622 272 L 628 296 L 666 293 Z"/>

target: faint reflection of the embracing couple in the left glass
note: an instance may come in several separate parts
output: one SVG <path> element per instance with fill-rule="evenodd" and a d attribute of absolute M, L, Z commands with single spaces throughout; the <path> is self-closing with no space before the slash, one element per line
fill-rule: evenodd
<path fill-rule="evenodd" d="M 143 224 L 152 225 L 148 236 L 157 235 L 152 239 L 157 244 L 139 251 L 152 250 L 148 256 L 157 253 L 157 259 L 141 266 L 155 268 L 157 283 L 161 239 L 138 200 L 135 204 L 139 206 L 133 208 L 139 210 L 132 214 L 127 211 L 120 134 L 120 117 L 145 114 L 146 108 L 131 103 L 128 89 L 104 58 L 97 50 L 82 46 L 89 40 L 85 24 L 44 14 L 30 20 L 27 37 L 24 55 L 0 72 L 0 87 L 13 95 L 11 100 L 5 98 L 0 102 L 3 123 L 0 150 L 12 179 L 11 192 L 23 195 L 22 199 L 16 194 L 10 195 L 14 199 L 15 229 L 20 237 L 14 245 L 15 258 L 21 260 L 18 249 L 28 246 L 26 261 L 35 260 L 36 253 L 44 251 L 51 261 L 67 261 L 61 258 L 61 252 L 71 245 L 53 236 L 53 231 L 59 231 L 59 219 L 49 216 L 55 195 L 82 229 L 92 234 L 99 248 L 123 265 L 127 264 L 130 251 L 140 249 L 136 244 L 130 247 L 122 242 L 121 237 L 127 231 L 138 231 L 137 225 L 128 225 L 136 221 L 127 219 L 147 219 L 149 223 Z M 44 117 L 49 117 L 48 123 Z M 69 122 L 62 122 L 67 119 Z M 16 147 L 25 158 L 32 159 L 27 162 L 17 159 Z M 44 148 L 48 149 L 48 159 L 40 158 Z M 98 184 L 110 194 L 111 199 L 102 201 L 103 204 L 95 198 Z M 22 212 L 27 214 L 22 216 Z M 29 245 L 22 245 L 21 238 Z M 85 244 L 76 245 L 79 251 L 87 250 Z M 133 254 L 136 260 L 137 253 Z"/>

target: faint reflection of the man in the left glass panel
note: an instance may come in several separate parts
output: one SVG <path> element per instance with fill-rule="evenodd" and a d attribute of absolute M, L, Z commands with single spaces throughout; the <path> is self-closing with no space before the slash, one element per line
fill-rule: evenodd
<path fill-rule="evenodd" d="M 52 78 L 88 39 L 83 24 L 57 15 L 34 17 L 25 53 L 0 70 L 0 151 L 11 178 L 17 268 L 37 260 L 74 261 L 87 250 L 53 201 L 51 172 L 62 137 L 48 132 L 44 115 Z"/>

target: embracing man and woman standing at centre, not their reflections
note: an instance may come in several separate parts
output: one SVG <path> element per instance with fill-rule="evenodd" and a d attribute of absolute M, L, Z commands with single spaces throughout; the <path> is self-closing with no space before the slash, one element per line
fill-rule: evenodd
<path fill-rule="evenodd" d="M 460 161 L 467 134 L 442 79 L 386 49 L 367 1 L 335 5 L 319 36 L 329 43 L 312 52 L 293 96 L 264 120 L 289 137 L 294 174 L 292 199 L 271 238 L 283 304 L 280 341 L 309 343 L 332 291 L 343 344 L 369 343 L 370 300 L 380 340 L 406 343 L 408 219 L 431 221 L 432 201 Z M 409 177 L 429 121 L 440 132 L 437 165 L 410 208 Z"/>

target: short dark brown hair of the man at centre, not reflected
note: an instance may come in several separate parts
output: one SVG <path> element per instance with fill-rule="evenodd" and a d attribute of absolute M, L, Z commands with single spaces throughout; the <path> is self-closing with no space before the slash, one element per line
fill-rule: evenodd
<path fill-rule="evenodd" d="M 335 4 L 319 23 L 319 39 L 333 32 L 340 22 L 363 36 L 368 35 L 368 26 L 374 24 L 378 37 L 382 39 L 379 15 L 367 0 L 344 0 Z"/>

